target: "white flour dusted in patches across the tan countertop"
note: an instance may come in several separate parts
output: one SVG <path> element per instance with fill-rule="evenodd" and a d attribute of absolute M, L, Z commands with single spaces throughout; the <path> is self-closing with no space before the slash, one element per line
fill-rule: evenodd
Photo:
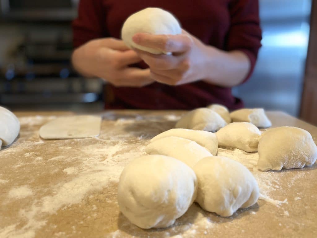
<path fill-rule="evenodd" d="M 40 195 L 38 197 L 35 196 L 30 206 L 19 211 L 18 215 L 20 218 L 26 218 L 27 222 L 23 223 L 23 226 L 19 226 L 19 228 L 16 227 L 20 225 L 20 222 L 0 228 L 0 237 L 18 237 L 19 235 L 21 237 L 34 237 L 36 230 L 47 223 L 48 215 L 55 214 L 59 209 L 81 203 L 89 192 L 100 191 L 111 183 L 118 183 L 125 165 L 133 158 L 145 155 L 144 148 L 149 143 L 149 140 L 157 134 L 171 129 L 175 121 L 179 119 L 179 116 L 173 114 L 160 117 L 140 115 L 119 117 L 112 112 L 106 112 L 102 117 L 110 124 L 99 137 L 55 141 L 54 143 L 59 145 L 56 149 L 60 154 L 58 156 L 49 157 L 33 151 L 33 146 L 36 143 L 36 146 L 39 147 L 53 143 L 52 141 L 39 139 L 38 131 L 28 134 L 35 142 L 21 140 L 19 146 L 12 146 L 1 151 L 0 156 L 4 157 L 16 151 L 24 152 L 25 157 L 17 158 L 16 160 L 15 166 L 17 168 L 30 165 L 30 162 L 25 161 L 25 158 L 30 158 L 32 166 L 51 165 L 52 169 L 49 171 L 51 176 L 62 174 L 65 177 L 58 183 L 47 185 L 48 188 L 45 195 L 41 195 L 41 189 L 30 189 L 27 186 L 12 188 L 8 193 L 8 198 Z M 56 116 L 35 116 L 20 117 L 19 120 L 21 125 L 37 126 L 37 129 L 39 129 L 42 124 L 55 118 Z M 91 143 L 91 141 L 94 142 Z M 250 169 L 259 184 L 260 199 L 276 206 L 281 206 L 287 202 L 287 199 L 279 201 L 270 197 L 273 191 L 280 188 L 278 176 L 275 176 L 276 174 L 273 172 L 261 172 L 256 169 L 258 153 L 247 153 L 239 149 L 219 148 L 218 155 L 241 162 Z M 7 180 L 0 179 L 0 185 L 5 185 L 6 183 Z M 111 197 L 106 197 L 105 201 L 114 202 Z M 97 207 L 93 205 L 91 210 L 98 211 Z M 238 211 L 237 213 L 240 214 L 243 211 Z M 252 210 L 249 213 L 256 215 L 256 212 Z M 94 219 L 94 215 L 91 214 L 91 216 Z M 193 217 L 195 217 L 194 220 L 192 220 Z M 212 229 L 217 227 L 217 222 L 212 219 L 214 219 L 213 214 L 203 211 L 195 203 L 185 215 L 177 219 L 175 224 L 164 233 L 165 237 L 190 238 L 209 234 Z M 220 222 L 228 221 L 228 219 L 230 218 L 217 217 Z M 146 231 L 134 226 L 127 219 L 122 222 L 121 226 L 131 229 L 131 234 L 134 234 L 135 237 L 148 237 Z M 198 234 L 198 229 L 204 229 L 204 232 Z M 61 232 L 54 235 L 64 236 L 65 234 Z M 126 233 L 117 230 L 106 237 L 126 237 Z"/>

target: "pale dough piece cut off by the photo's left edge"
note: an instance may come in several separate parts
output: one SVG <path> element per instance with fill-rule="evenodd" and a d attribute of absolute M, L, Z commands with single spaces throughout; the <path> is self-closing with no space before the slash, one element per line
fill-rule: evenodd
<path fill-rule="evenodd" d="M 8 109 L 0 107 L 0 149 L 12 144 L 20 132 L 20 122 Z"/>

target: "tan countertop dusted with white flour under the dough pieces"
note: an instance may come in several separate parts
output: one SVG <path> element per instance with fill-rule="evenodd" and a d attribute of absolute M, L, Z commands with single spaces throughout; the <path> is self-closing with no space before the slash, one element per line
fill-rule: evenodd
<path fill-rule="evenodd" d="M 170 228 L 131 224 L 117 204 L 120 173 L 181 114 L 104 112 L 99 137 L 46 141 L 40 127 L 63 113 L 16 113 L 20 136 L 0 151 L 0 237 L 317 237 L 317 166 L 260 172 L 258 154 L 237 149 L 218 155 L 254 174 L 261 193 L 254 206 L 223 218 L 194 203 Z M 308 130 L 316 142 L 316 127 L 279 112 L 268 116 L 274 126 Z"/>

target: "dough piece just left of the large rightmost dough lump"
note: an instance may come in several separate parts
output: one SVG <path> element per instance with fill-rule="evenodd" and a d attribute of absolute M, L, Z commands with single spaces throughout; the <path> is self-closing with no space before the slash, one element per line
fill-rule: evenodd
<path fill-rule="evenodd" d="M 249 122 L 232 122 L 218 130 L 216 135 L 219 147 L 256 152 L 261 132 Z"/>

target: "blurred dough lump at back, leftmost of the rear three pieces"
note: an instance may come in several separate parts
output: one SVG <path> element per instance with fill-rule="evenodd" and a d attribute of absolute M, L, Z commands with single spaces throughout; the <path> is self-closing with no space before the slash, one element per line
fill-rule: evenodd
<path fill-rule="evenodd" d="M 218 113 L 209 108 L 198 108 L 185 114 L 175 127 L 215 132 L 225 125 L 227 122 Z"/>

